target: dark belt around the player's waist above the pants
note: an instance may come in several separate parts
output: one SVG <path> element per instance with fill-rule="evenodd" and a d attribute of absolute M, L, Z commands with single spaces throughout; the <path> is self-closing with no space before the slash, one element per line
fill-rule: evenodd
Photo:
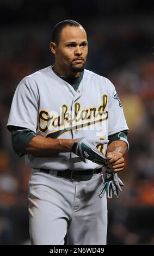
<path fill-rule="evenodd" d="M 51 169 L 40 169 L 40 172 L 51 174 L 53 176 L 63 177 L 70 180 L 90 180 L 93 174 L 102 172 L 102 168 L 94 170 L 51 170 Z"/>

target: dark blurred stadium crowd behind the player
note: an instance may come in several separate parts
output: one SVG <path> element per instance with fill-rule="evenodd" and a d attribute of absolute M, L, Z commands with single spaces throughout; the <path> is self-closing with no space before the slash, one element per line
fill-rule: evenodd
<path fill-rule="evenodd" d="M 108 245 L 154 245 L 154 4 L 147 0 L 0 0 L 0 245 L 29 244 L 30 169 L 6 129 L 20 80 L 53 64 L 53 26 L 72 19 L 88 34 L 86 68 L 116 87 L 130 127 L 120 199 L 108 200 Z"/>

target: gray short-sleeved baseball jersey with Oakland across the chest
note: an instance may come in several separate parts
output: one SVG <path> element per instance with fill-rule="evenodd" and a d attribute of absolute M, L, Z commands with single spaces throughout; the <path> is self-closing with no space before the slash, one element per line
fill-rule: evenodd
<path fill-rule="evenodd" d="M 24 77 L 16 88 L 8 124 L 26 127 L 48 138 L 107 139 L 108 135 L 127 130 L 121 102 L 113 84 L 84 69 L 77 92 L 57 76 L 52 66 Z M 107 145 L 104 146 L 104 154 Z M 26 155 L 33 168 L 96 169 L 100 165 L 73 153 L 50 156 Z"/>

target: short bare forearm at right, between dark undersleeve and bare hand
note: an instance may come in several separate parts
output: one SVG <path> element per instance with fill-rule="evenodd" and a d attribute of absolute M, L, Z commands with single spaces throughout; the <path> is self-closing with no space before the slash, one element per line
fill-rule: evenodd
<path fill-rule="evenodd" d="M 124 141 L 113 141 L 110 143 L 107 147 L 107 153 L 110 152 L 118 152 L 121 153 L 122 156 L 124 156 L 127 152 L 127 143 Z"/>

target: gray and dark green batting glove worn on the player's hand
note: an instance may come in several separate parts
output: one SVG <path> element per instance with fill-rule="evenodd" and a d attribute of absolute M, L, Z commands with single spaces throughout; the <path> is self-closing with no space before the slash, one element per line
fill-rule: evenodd
<path fill-rule="evenodd" d="M 88 159 L 94 163 L 101 164 L 102 166 L 107 161 L 107 158 L 97 149 L 99 145 L 107 144 L 107 140 L 90 140 L 87 138 L 78 138 L 72 146 L 72 152 L 79 157 Z"/>

